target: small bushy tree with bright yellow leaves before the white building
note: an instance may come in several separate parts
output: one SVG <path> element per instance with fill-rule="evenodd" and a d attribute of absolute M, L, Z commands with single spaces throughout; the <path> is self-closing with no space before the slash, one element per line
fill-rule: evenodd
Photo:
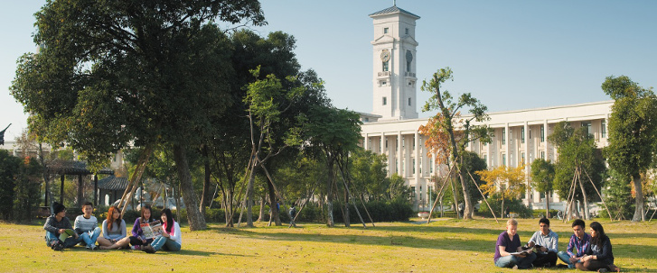
<path fill-rule="evenodd" d="M 521 163 L 518 167 L 500 166 L 492 170 L 480 170 L 476 173 L 482 177 L 486 184 L 483 184 L 482 191 L 484 194 L 497 194 L 502 199 L 501 214 L 504 217 L 504 200 L 518 199 L 526 190 L 525 185 L 525 164 Z"/>

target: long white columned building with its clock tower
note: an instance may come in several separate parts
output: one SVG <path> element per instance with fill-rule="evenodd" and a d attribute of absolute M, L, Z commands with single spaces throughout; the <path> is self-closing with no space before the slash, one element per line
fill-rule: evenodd
<path fill-rule="evenodd" d="M 427 118 L 418 118 L 416 101 L 415 26 L 418 15 L 392 6 L 370 14 L 373 19 L 372 44 L 373 113 L 361 114 L 363 141 L 366 150 L 388 156 L 389 175 L 398 173 L 414 191 L 415 209 L 430 208 L 433 183 L 430 178 L 446 175 L 446 167 L 435 168 L 434 156 L 427 156 L 420 125 Z M 517 167 L 525 160 L 557 158 L 555 148 L 547 141 L 556 123 L 568 121 L 574 128 L 587 126 L 596 138 L 597 147 L 606 146 L 606 119 L 613 101 L 563 105 L 536 109 L 489 113 L 487 124 L 494 129 L 493 142 L 483 145 L 469 143 L 467 149 L 476 152 L 489 168 L 501 165 Z M 529 164 L 528 164 L 529 165 Z M 526 169 L 529 174 L 529 166 Z M 529 177 L 529 176 L 528 176 Z M 434 196 L 435 197 L 435 196 Z M 544 208 L 545 196 L 531 191 L 524 196 L 525 204 Z M 557 195 L 551 196 L 550 207 L 563 209 Z"/>

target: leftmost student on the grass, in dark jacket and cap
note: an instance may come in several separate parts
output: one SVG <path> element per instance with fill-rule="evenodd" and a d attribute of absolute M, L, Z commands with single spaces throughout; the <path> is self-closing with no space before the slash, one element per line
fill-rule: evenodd
<path fill-rule="evenodd" d="M 43 224 L 46 245 L 52 250 L 63 250 L 78 244 L 78 233 L 73 232 L 69 217 L 66 217 L 66 207 L 52 202 L 52 215 Z"/>

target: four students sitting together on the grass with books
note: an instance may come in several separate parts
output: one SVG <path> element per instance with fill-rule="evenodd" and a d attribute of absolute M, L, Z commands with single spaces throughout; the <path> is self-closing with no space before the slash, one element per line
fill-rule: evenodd
<path fill-rule="evenodd" d="M 586 223 L 577 219 L 573 222 L 573 235 L 568 241 L 566 251 L 558 251 L 558 235 L 549 229 L 549 219 L 539 220 L 539 231 L 534 232 L 530 241 L 522 245 L 517 233 L 518 222 L 510 219 L 506 231 L 500 233 L 495 243 L 495 266 L 499 268 L 533 268 L 557 266 L 561 259 L 568 268 L 582 271 L 620 272 L 614 265 L 611 241 L 605 234 L 602 224 L 589 225 L 591 234 L 585 232 Z M 533 248 L 534 251 L 530 249 Z M 529 250 L 529 251 L 528 251 Z"/>

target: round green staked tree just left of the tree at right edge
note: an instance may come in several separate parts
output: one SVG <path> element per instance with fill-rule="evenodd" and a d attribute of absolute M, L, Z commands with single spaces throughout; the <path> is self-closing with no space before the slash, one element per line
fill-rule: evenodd
<path fill-rule="evenodd" d="M 589 219 L 588 201 L 596 199 L 596 188 L 600 187 L 605 176 L 605 161 L 601 151 L 596 148 L 593 135 L 588 133 L 586 127 L 575 130 L 570 123 L 564 121 L 557 123 L 548 140 L 558 151 L 554 187 L 559 197 L 571 202 L 581 200 L 584 203 L 584 218 Z M 568 196 L 571 187 L 574 197 Z"/>

